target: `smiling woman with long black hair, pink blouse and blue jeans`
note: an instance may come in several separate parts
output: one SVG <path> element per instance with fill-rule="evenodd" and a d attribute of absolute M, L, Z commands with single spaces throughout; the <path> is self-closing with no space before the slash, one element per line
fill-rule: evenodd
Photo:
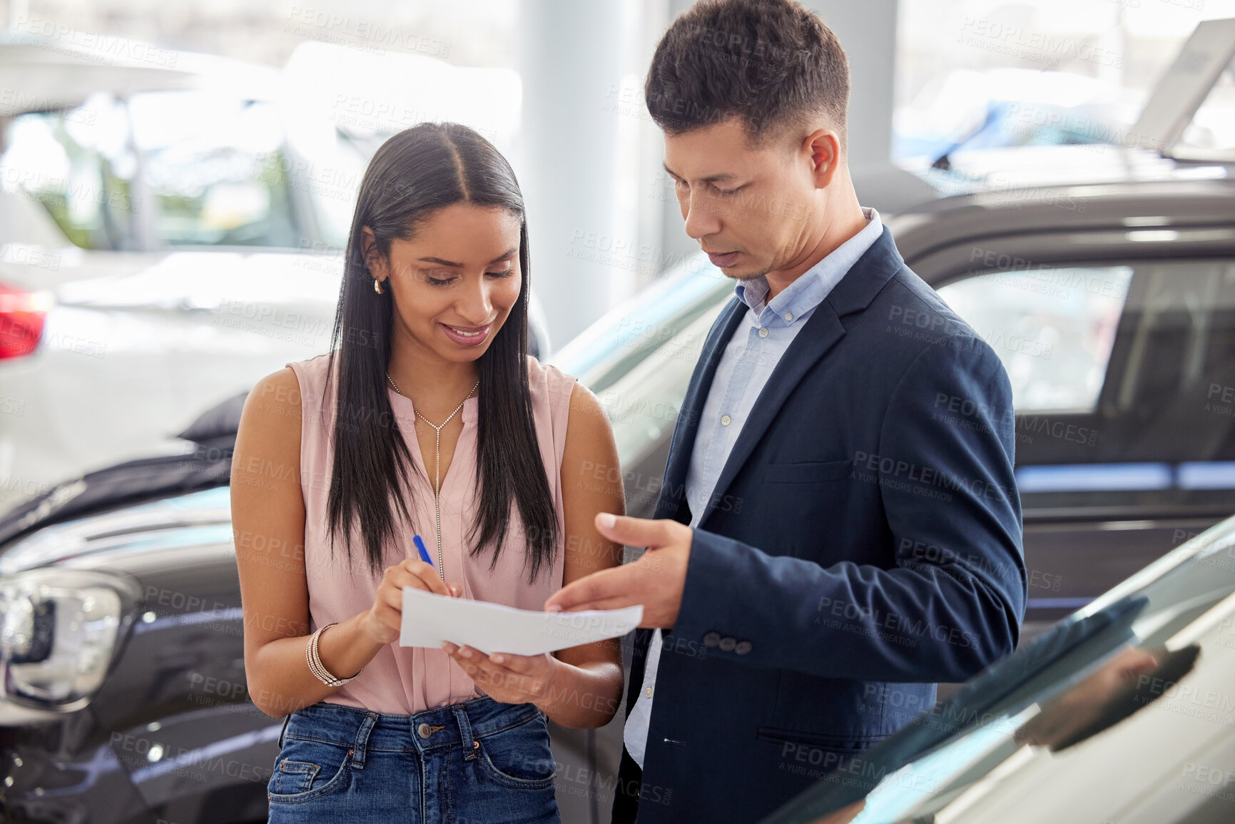
<path fill-rule="evenodd" d="M 249 693 L 287 715 L 275 824 L 556 822 L 545 717 L 595 728 L 616 710 L 616 642 L 398 645 L 404 587 L 542 609 L 620 561 L 593 523 L 624 511 L 620 481 L 593 481 L 618 466 L 613 432 L 590 392 L 526 355 L 527 294 L 501 154 L 454 124 L 383 143 L 332 353 L 253 388 L 232 458 Z"/>

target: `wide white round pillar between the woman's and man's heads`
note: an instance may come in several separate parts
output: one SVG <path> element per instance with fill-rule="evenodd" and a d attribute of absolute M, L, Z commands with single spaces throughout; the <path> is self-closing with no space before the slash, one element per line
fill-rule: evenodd
<path fill-rule="evenodd" d="M 552 347 L 610 308 L 618 227 L 618 122 L 606 95 L 621 79 L 626 4 L 524 0 L 521 151 L 532 283 Z M 619 250 L 619 256 L 621 250 Z"/>

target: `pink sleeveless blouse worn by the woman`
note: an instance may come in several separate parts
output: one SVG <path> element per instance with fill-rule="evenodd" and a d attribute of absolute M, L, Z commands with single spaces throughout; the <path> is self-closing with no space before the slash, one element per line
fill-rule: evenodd
<path fill-rule="evenodd" d="M 306 361 L 288 363 L 300 382 L 300 489 L 305 507 L 305 577 L 309 584 L 310 631 L 332 621 L 342 621 L 373 607 L 382 581 L 369 571 L 359 529 L 352 529 L 352 555 L 348 565 L 346 549 L 340 541 L 331 557 L 326 525 L 326 500 L 330 493 L 335 418 L 335 379 L 330 376 L 326 403 L 322 389 L 327 383 L 329 356 L 319 355 Z M 479 399 L 463 403 L 459 415 L 463 431 L 454 447 L 450 468 L 442 478 L 442 560 L 448 582 L 463 586 L 463 597 L 488 600 L 520 609 L 542 609 L 545 600 L 562 587 L 564 568 L 564 518 L 562 508 L 561 469 L 566 451 L 566 424 L 569 415 L 571 390 L 574 378 L 557 367 L 542 364 L 527 356 L 531 383 L 532 414 L 540 441 L 545 474 L 557 510 L 558 540 L 551 567 L 542 567 L 535 583 L 527 583 L 530 567 L 524 566 L 524 530 L 517 507 L 511 507 L 510 529 L 490 572 L 492 549 L 478 556 L 468 552 L 466 537 L 479 505 L 475 488 L 477 414 Z M 410 478 L 412 504 L 409 511 L 420 531 L 433 565 L 437 565 L 437 534 L 433 510 L 433 467 L 425 467 L 420 452 L 415 413 L 411 400 L 387 388 L 390 406 L 403 437 L 408 444 L 417 472 Z M 364 425 L 358 419 L 358 425 Z M 369 424 L 375 425 L 375 424 Z M 432 435 L 429 435 L 432 437 Z M 404 558 L 416 558 L 412 532 L 401 519 L 395 520 L 401 534 L 387 547 L 384 566 Z M 340 687 L 325 700 L 358 707 L 378 713 L 410 715 L 483 694 L 479 687 L 454 663 L 445 650 L 388 644 L 352 682 Z"/>

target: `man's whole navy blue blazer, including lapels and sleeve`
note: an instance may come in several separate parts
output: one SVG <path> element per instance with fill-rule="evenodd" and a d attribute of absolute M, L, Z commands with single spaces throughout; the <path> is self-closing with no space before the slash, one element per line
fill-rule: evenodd
<path fill-rule="evenodd" d="M 746 310 L 735 296 L 708 335 L 653 518 L 690 523 L 699 418 Z M 1014 436 L 998 356 L 884 227 L 777 363 L 694 530 L 614 822 L 758 820 L 860 772 L 936 682 L 1010 654 L 1028 595 Z"/>

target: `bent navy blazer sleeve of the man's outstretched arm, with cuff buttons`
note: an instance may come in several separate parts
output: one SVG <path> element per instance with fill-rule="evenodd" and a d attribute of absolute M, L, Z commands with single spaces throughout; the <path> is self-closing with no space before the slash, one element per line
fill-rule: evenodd
<path fill-rule="evenodd" d="M 1014 441 L 994 351 L 971 336 L 926 346 L 892 393 L 878 453 L 853 456 L 855 473 L 878 474 L 892 535 L 872 557 L 894 563 L 825 567 L 695 529 L 669 634 L 752 667 L 965 681 L 1015 649 L 1025 614 Z M 826 557 L 818 540 L 808 553 Z"/>

